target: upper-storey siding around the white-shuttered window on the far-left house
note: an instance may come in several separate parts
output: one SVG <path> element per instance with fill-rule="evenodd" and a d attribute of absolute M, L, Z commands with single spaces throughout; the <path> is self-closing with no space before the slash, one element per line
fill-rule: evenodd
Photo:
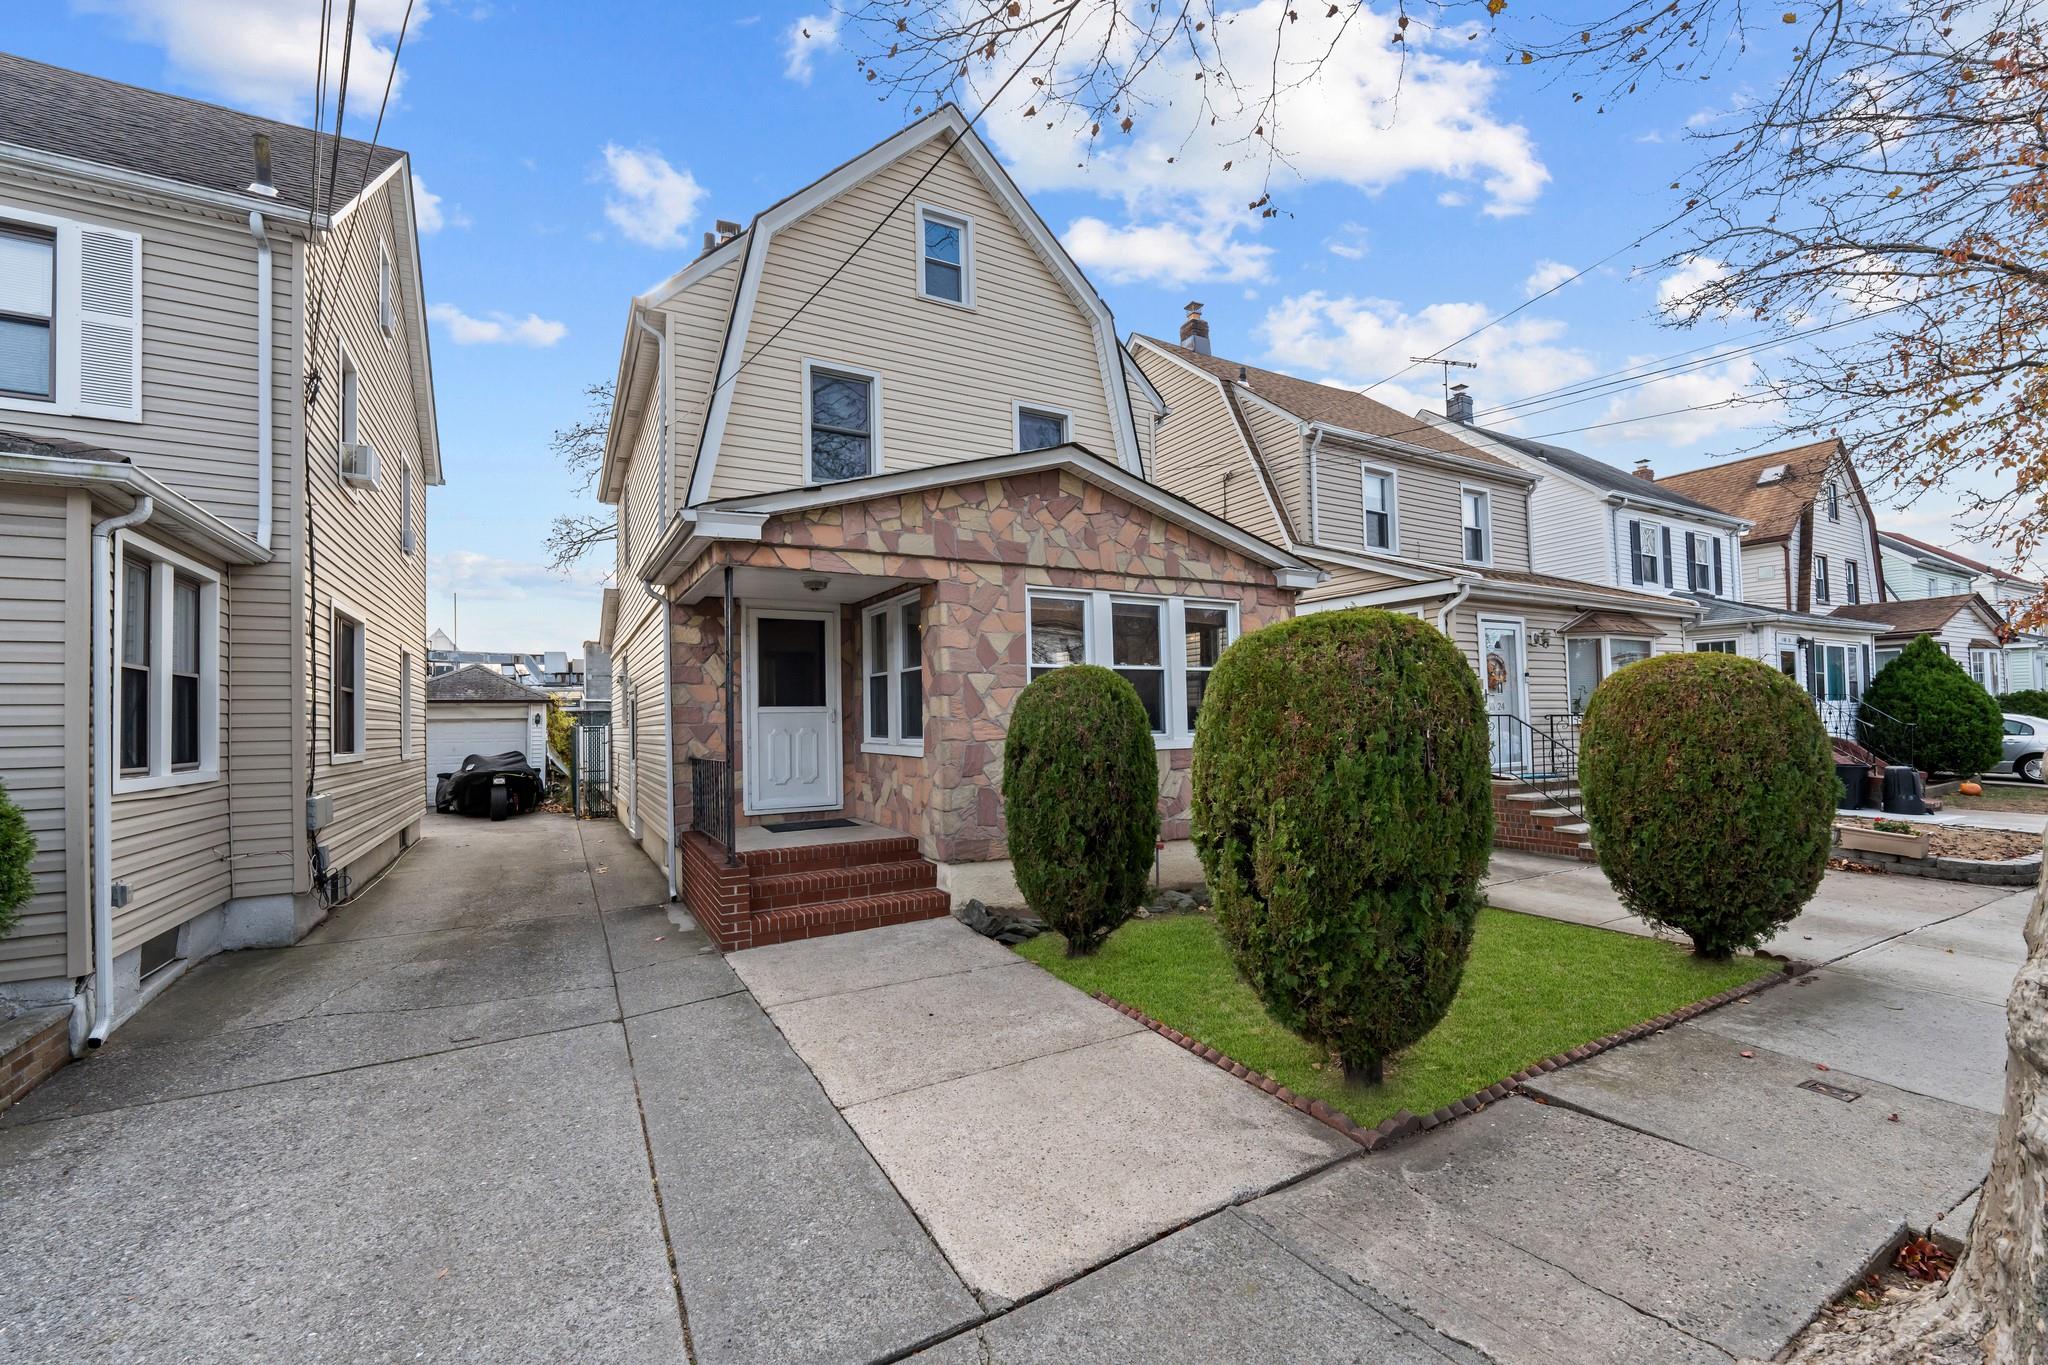
<path fill-rule="evenodd" d="M 106 446 L 231 526 L 256 528 L 256 241 L 246 217 L 156 209 L 0 172 L 10 207 L 141 235 L 141 422 L 0 411 L 0 426 Z M 272 244 L 285 227 L 270 227 Z M 289 252 L 276 252 L 281 293 Z"/>

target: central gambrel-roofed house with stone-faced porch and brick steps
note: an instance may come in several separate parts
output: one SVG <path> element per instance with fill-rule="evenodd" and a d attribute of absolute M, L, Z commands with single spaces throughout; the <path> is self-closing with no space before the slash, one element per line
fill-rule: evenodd
<path fill-rule="evenodd" d="M 723 948 L 944 913 L 1004 855 L 1010 706 L 1065 663 L 1139 690 L 1186 837 L 1208 665 L 1317 573 L 1149 477 L 1161 411 L 952 106 L 631 303 L 614 796 Z"/>

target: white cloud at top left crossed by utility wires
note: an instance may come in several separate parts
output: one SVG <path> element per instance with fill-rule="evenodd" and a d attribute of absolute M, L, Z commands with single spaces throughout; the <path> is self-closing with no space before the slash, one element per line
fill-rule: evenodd
<path fill-rule="evenodd" d="M 319 6 L 303 0 L 72 0 L 90 14 L 121 20 L 127 37 L 164 49 L 172 74 L 211 96 L 276 119 L 303 121 L 313 113 L 313 74 L 319 63 Z M 416 2 L 408 35 L 428 20 L 430 6 Z M 365 125 L 377 117 L 385 74 L 406 0 L 358 0 L 348 55 L 348 108 Z M 332 82 L 340 72 L 342 25 L 334 25 L 328 51 L 328 119 Z M 403 86 L 393 82 L 393 102 Z M 332 123 L 330 123 L 332 127 Z"/>

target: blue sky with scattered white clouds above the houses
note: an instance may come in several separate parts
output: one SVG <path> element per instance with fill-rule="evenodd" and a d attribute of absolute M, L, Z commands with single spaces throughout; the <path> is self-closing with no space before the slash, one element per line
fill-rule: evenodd
<path fill-rule="evenodd" d="M 352 133 L 369 131 L 401 10 L 360 0 L 350 108 L 365 123 Z M 4 37 L 39 61 L 303 121 L 315 29 L 313 0 L 70 0 L 16 8 Z M 627 299 L 684 264 L 713 219 L 745 221 L 909 117 L 874 98 L 836 29 L 817 0 L 416 2 L 385 141 L 412 153 L 430 194 L 422 254 L 449 483 L 428 501 L 428 610 L 449 626 L 461 593 L 465 647 L 573 651 L 596 634 L 608 557 L 567 579 L 541 567 L 549 518 L 575 501 L 547 438 L 580 413 L 584 385 L 616 368 Z M 1366 25 L 1282 111 L 1292 170 L 1270 188 L 1284 211 L 1257 219 L 1245 213 L 1255 158 L 1217 145 L 1227 129 L 1190 141 L 1186 106 L 1167 104 L 1184 82 L 1159 82 L 1133 135 L 1106 137 L 1094 158 L 1010 104 L 987 133 L 1124 332 L 1174 336 L 1182 305 L 1200 299 L 1219 354 L 1352 385 L 1667 219 L 1688 127 L 1743 88 L 1735 72 L 1595 115 L 1540 68 L 1499 63 L 1485 37 L 1436 35 L 1389 111 L 1376 100 L 1386 47 Z M 1749 332 L 1659 327 L 1671 282 L 1638 270 L 1655 256 L 1655 244 L 1616 256 L 1462 346 L 1481 366 L 1460 372 L 1481 420 Z M 1620 465 L 1692 469 L 1767 436 L 1745 426 L 1747 409 L 1696 409 L 1735 393 L 1745 364 L 1497 424 Z M 1374 397 L 1413 409 L 1442 395 L 1432 372 L 1411 370 Z M 1640 420 L 1679 407 L 1696 411 Z M 1573 432 L 1593 424 L 1620 426 Z M 1946 505 L 1882 516 L 1952 534 Z"/>

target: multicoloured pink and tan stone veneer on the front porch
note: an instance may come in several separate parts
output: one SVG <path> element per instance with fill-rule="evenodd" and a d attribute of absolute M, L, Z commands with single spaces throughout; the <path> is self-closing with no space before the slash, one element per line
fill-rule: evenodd
<path fill-rule="evenodd" d="M 918 579 L 924 620 L 924 755 L 862 753 L 860 608 L 840 610 L 844 806 L 918 839 L 934 862 L 1004 857 L 1001 759 L 1010 706 L 1030 677 L 1024 593 L 1075 587 L 1237 604 L 1239 634 L 1292 616 L 1270 567 L 1135 508 L 1071 471 L 975 479 L 770 518 L 760 542 L 721 542 L 676 585 L 725 565 Z M 670 614 L 676 819 L 690 827 L 690 757 L 725 757 L 725 626 L 717 585 Z M 872 600 L 905 591 L 877 591 Z M 797 593 L 791 593 L 797 596 Z M 870 600 L 870 602 L 872 602 Z M 745 606 L 745 602 L 741 602 Z M 737 675 L 735 675 L 737 681 Z M 743 726 L 743 708 L 739 708 Z M 741 737 L 733 788 L 745 790 Z M 1165 839 L 1188 837 L 1190 749 L 1159 751 Z M 737 817 L 750 823 L 748 817 Z M 774 819 L 793 819 L 778 812 Z"/>

